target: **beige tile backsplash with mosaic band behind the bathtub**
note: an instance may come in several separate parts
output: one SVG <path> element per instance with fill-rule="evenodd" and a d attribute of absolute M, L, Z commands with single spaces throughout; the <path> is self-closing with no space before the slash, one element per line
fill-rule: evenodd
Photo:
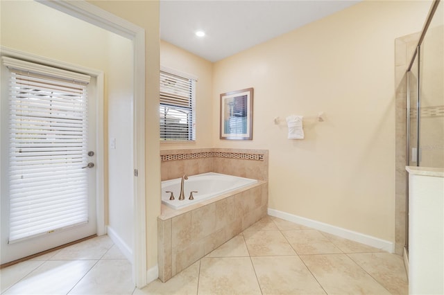
<path fill-rule="evenodd" d="M 268 181 L 268 150 L 204 148 L 162 150 L 160 152 L 162 181 L 216 172 Z"/>

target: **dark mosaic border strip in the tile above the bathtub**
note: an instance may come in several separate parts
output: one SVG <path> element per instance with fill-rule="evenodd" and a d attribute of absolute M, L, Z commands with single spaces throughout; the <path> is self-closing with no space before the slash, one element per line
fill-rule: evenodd
<path fill-rule="evenodd" d="M 248 154 L 244 152 L 193 152 L 189 154 L 162 154 L 160 156 L 160 161 L 163 162 L 212 157 L 264 161 L 264 154 Z"/>

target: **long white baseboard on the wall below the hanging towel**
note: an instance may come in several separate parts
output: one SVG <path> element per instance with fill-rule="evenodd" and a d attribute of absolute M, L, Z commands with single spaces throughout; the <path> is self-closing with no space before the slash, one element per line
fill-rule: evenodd
<path fill-rule="evenodd" d="M 332 226 L 330 224 L 325 224 L 323 222 L 318 222 L 316 220 L 309 220 L 305 217 L 300 217 L 298 215 L 293 215 L 290 213 L 285 213 L 275 209 L 268 208 L 268 215 L 281 218 L 282 220 L 287 220 L 289 222 L 294 222 L 297 224 L 302 224 L 304 226 L 309 226 L 312 229 L 317 229 L 319 231 L 324 231 L 325 233 L 331 233 L 332 235 L 337 235 L 341 238 L 359 242 L 361 244 L 366 244 L 377 249 L 382 249 L 389 253 L 395 252 L 395 244 L 393 242 L 388 242 L 379 238 L 372 237 L 370 235 L 365 235 L 364 233 L 357 233 L 356 231 L 350 231 L 348 229 L 343 229 L 338 226 Z"/>

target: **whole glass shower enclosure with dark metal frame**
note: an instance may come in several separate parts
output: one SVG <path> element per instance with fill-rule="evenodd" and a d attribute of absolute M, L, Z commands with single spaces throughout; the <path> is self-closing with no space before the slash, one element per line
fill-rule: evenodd
<path fill-rule="evenodd" d="M 444 168 L 444 11 L 442 1 L 434 1 L 432 4 L 407 71 L 407 87 L 406 165 Z M 408 216 L 408 202 L 406 203 Z M 408 223 L 406 229 L 407 235 Z M 408 237 L 406 237 L 407 250 L 408 246 Z"/>

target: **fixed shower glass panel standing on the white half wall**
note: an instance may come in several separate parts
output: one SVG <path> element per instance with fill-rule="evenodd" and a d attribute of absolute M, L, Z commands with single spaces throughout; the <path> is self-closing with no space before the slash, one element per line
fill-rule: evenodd
<path fill-rule="evenodd" d="M 438 4 L 420 47 L 419 165 L 444 168 L 444 11 Z M 413 164 L 415 165 L 415 164 Z"/>

